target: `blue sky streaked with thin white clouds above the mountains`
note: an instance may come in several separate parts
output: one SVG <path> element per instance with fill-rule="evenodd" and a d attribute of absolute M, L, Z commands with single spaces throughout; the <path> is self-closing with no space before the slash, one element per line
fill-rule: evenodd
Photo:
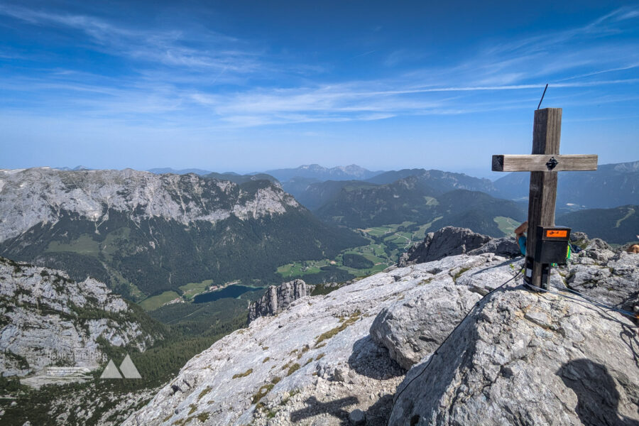
<path fill-rule="evenodd" d="M 488 175 L 546 83 L 562 153 L 639 160 L 639 5 L 0 0 L 0 168 Z"/>

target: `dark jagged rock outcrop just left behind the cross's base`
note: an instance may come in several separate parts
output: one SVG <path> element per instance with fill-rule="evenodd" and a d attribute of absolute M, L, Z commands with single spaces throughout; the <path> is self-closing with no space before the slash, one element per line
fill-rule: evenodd
<path fill-rule="evenodd" d="M 519 246 L 513 238 L 494 239 L 491 236 L 477 234 L 467 228 L 445 226 L 426 234 L 420 244 L 415 244 L 399 260 L 398 266 L 414 263 L 438 261 L 446 256 L 469 253 L 495 253 L 498 256 L 520 256 Z"/>

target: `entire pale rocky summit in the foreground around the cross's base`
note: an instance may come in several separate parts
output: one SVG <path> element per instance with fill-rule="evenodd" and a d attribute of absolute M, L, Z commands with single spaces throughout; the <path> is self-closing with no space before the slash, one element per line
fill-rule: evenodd
<path fill-rule="evenodd" d="M 522 263 L 461 253 L 301 297 L 195 356 L 124 425 L 639 422 L 637 324 L 565 290 L 637 310 L 639 257 L 590 244 L 553 270 L 562 295 L 524 288 Z"/>

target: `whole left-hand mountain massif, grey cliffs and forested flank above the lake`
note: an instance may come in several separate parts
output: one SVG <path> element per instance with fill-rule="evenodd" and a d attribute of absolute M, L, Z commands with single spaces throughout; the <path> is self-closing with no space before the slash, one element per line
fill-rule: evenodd
<path fill-rule="evenodd" d="M 279 265 L 366 244 L 279 185 L 135 170 L 0 171 L 0 253 L 141 300 L 185 285 L 266 285 Z"/>

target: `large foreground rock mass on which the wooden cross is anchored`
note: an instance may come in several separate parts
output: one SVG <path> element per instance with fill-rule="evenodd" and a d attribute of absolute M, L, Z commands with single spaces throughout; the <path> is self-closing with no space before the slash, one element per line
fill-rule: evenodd
<path fill-rule="evenodd" d="M 408 372 L 389 425 L 636 425 L 638 344 L 622 315 L 507 286 Z"/>

